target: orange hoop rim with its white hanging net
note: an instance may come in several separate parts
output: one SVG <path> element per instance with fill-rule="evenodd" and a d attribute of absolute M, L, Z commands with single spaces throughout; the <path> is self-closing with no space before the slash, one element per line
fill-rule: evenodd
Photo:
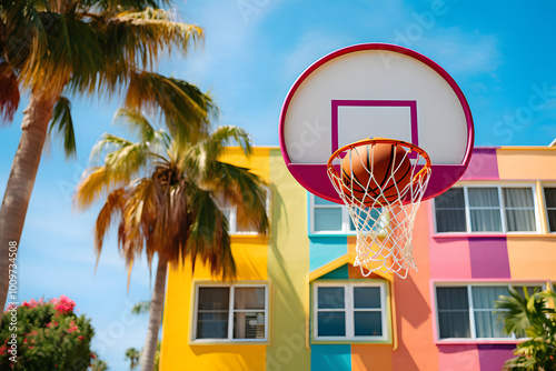
<path fill-rule="evenodd" d="M 342 180 L 340 176 L 341 160 L 349 156 L 350 150 L 369 146 L 370 163 L 373 163 L 373 151 L 377 143 L 404 148 L 405 153 L 401 156 L 407 157 L 410 163 L 409 183 L 403 188 L 398 187 L 395 181 L 398 169 L 395 167 L 391 167 L 386 176 L 383 172 L 381 177 L 387 177 L 387 179 L 376 179 L 374 167 L 363 163 L 369 174 L 369 180 L 365 187 L 365 194 L 361 197 L 361 184 L 357 183 L 354 177 L 349 180 L 346 178 Z M 396 151 L 394 152 L 394 157 L 396 157 Z M 361 160 L 357 159 L 357 161 Z M 406 160 L 393 159 L 394 163 L 403 161 Z M 357 230 L 354 265 L 360 267 L 361 274 L 368 277 L 374 271 L 383 271 L 406 278 L 409 268 L 417 270 L 413 259 L 413 229 L 417 210 L 430 179 L 430 158 L 428 154 L 408 142 L 390 139 L 366 139 L 338 149 L 330 157 L 327 169 L 328 177 L 347 205 L 349 217 Z M 385 187 L 376 187 L 381 183 Z M 355 191 L 354 186 L 358 188 Z M 370 189 L 373 191 L 369 191 Z"/>

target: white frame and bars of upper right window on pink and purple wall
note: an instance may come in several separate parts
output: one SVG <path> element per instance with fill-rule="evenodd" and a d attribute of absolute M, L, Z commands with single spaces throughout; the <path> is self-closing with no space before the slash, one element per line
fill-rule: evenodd
<path fill-rule="evenodd" d="M 456 187 L 457 188 L 457 187 Z M 535 188 L 532 184 L 512 184 L 512 186 L 463 186 L 460 187 L 464 190 L 464 200 L 465 200 L 465 222 L 466 222 L 466 230 L 464 233 L 539 233 L 539 219 L 538 219 L 538 213 L 537 213 L 537 202 L 536 202 L 536 197 L 535 197 Z M 470 205 L 469 203 L 469 189 L 477 189 L 477 188 L 483 188 L 483 189 L 496 189 L 497 190 L 497 195 L 498 195 L 498 207 L 478 207 L 478 205 Z M 532 191 L 532 198 L 533 198 L 533 205 L 532 207 L 506 207 L 504 202 L 504 189 L 512 189 L 512 188 L 525 188 L 525 189 L 530 189 Z M 458 211 L 460 210 L 459 208 L 446 208 L 441 207 L 435 210 L 454 210 Z M 500 231 L 474 231 L 473 230 L 473 218 L 471 218 L 471 211 L 473 210 L 498 210 L 499 217 L 500 217 Z M 534 218 L 534 230 L 532 231 L 508 231 L 507 228 L 507 211 L 513 211 L 513 210 L 532 210 L 533 211 L 533 218 Z M 556 210 L 556 208 L 554 208 Z M 436 212 L 434 213 L 436 218 Z M 435 232 L 436 233 L 454 233 L 451 231 L 448 232 L 438 232 L 438 223 L 435 220 Z M 457 231 L 456 231 L 457 232 Z"/>

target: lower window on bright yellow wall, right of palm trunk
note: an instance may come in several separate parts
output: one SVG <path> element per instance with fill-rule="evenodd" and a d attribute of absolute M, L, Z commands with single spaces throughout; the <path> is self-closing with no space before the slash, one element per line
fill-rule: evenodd
<path fill-rule="evenodd" d="M 266 341 L 266 285 L 197 285 L 193 340 Z"/>

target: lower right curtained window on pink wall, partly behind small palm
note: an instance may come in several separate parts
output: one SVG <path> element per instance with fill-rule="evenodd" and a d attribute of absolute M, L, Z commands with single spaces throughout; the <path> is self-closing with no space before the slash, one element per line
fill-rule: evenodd
<path fill-rule="evenodd" d="M 534 292 L 540 285 L 527 285 Z M 439 285 L 436 288 L 438 339 L 515 339 L 502 332 L 495 300 L 509 294 L 509 285 Z M 524 294 L 523 287 L 515 289 Z"/>

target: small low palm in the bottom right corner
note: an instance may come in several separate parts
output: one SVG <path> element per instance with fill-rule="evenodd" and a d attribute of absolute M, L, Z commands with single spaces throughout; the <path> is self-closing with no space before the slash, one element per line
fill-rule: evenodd
<path fill-rule="evenodd" d="M 506 361 L 504 370 L 556 371 L 556 293 L 529 294 L 524 288 L 520 294 L 512 288 L 509 297 L 500 297 L 495 303 L 504 322 L 503 331 L 527 338 L 517 344 L 517 357 Z"/>

